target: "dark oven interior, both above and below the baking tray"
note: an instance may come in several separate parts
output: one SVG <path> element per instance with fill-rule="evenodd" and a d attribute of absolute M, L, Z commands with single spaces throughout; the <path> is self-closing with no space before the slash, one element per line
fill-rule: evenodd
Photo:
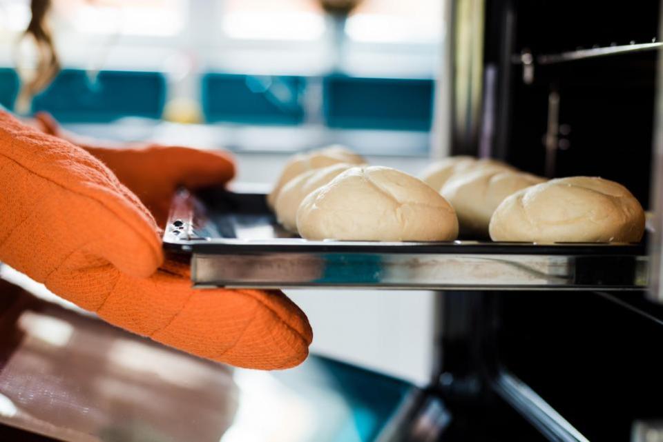
<path fill-rule="evenodd" d="M 454 5 L 453 51 L 483 48 L 454 71 L 452 151 L 612 179 L 648 210 L 660 4 Z M 474 419 L 441 440 L 663 440 L 646 439 L 663 438 L 663 307 L 644 292 L 446 292 L 442 311 L 436 383 Z"/>

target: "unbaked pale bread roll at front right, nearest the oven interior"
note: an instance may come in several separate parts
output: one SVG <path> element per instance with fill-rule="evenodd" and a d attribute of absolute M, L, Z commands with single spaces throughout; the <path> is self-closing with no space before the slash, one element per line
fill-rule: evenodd
<path fill-rule="evenodd" d="M 596 177 L 553 179 L 502 201 L 490 220 L 494 241 L 637 242 L 644 211 L 631 192 Z"/>

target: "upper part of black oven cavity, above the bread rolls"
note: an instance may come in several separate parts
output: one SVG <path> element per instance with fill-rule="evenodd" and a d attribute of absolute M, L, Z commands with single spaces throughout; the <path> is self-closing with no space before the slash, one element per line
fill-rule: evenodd
<path fill-rule="evenodd" d="M 488 1 L 472 147 L 548 177 L 614 179 L 646 206 L 659 8 Z"/>

